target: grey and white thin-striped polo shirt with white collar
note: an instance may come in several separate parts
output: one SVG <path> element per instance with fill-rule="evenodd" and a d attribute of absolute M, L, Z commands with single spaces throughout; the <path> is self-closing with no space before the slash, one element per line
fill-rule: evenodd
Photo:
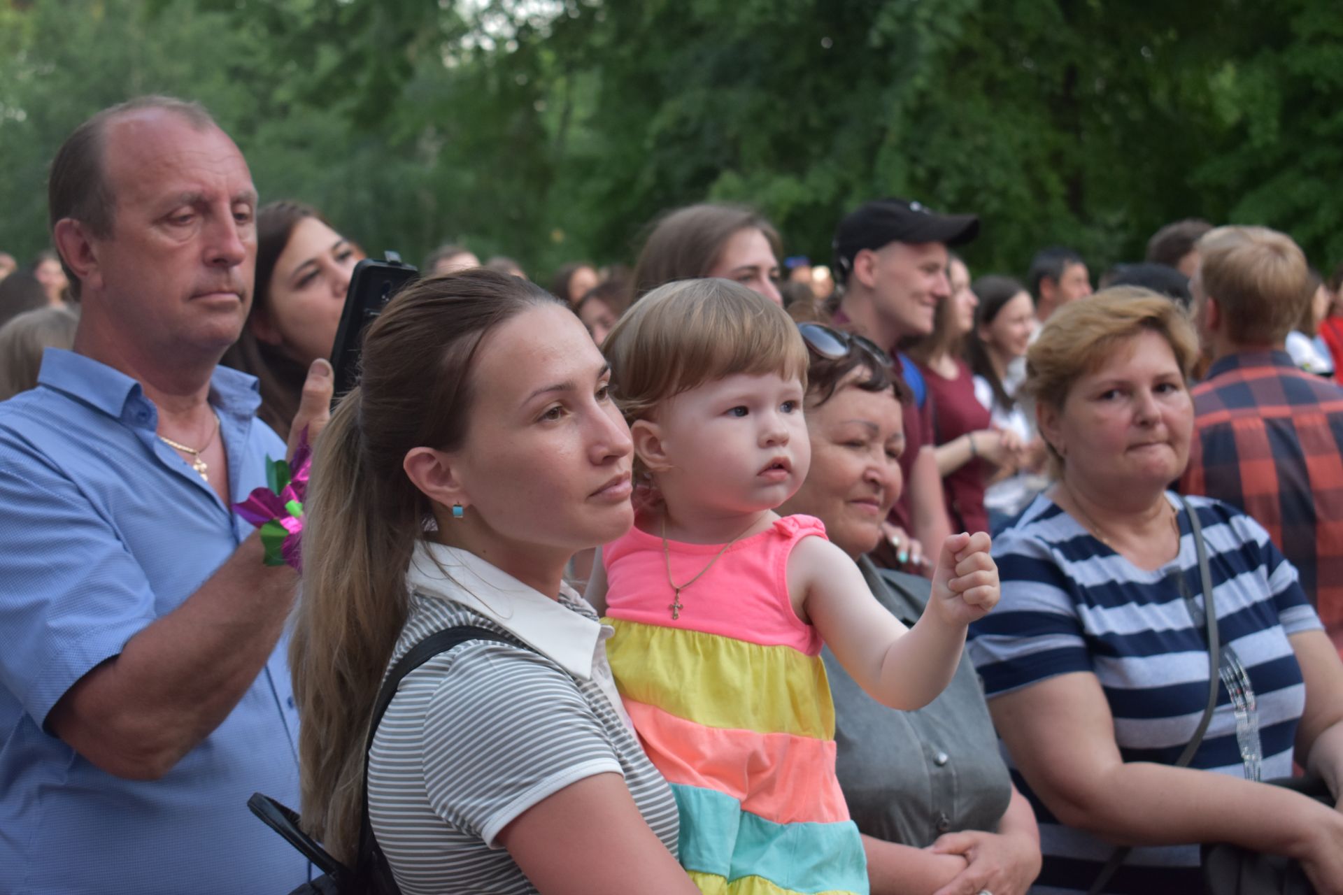
<path fill-rule="evenodd" d="M 369 813 L 402 892 L 535 892 L 500 831 L 603 773 L 624 778 L 674 856 L 676 800 L 619 708 L 606 660 L 611 628 L 592 608 L 567 585 L 556 601 L 443 545 L 416 546 L 407 577 L 410 619 L 388 667 L 457 625 L 520 643 L 474 640 L 430 659 L 404 678 L 379 725 Z"/>

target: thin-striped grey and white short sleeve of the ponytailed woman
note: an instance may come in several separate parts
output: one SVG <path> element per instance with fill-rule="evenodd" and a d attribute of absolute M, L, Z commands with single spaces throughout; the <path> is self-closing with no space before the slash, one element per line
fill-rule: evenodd
<path fill-rule="evenodd" d="M 524 810 L 587 777 L 623 776 L 572 678 L 520 647 L 467 644 L 424 715 L 428 802 L 490 848 Z"/>

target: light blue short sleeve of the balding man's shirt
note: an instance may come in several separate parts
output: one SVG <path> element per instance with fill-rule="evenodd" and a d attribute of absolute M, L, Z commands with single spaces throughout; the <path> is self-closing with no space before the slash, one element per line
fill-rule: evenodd
<path fill-rule="evenodd" d="M 8 432 L 0 506 L 0 683 L 42 726 L 77 680 L 156 619 L 154 593 L 113 525 Z"/>

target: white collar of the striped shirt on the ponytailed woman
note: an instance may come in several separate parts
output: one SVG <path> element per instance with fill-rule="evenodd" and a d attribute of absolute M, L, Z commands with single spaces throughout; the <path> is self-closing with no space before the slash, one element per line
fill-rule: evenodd
<path fill-rule="evenodd" d="M 411 590 L 478 612 L 575 678 L 592 678 L 602 624 L 560 605 L 474 553 L 420 541 L 411 554 L 406 581 Z M 567 584 L 560 588 L 569 600 L 582 601 Z"/>

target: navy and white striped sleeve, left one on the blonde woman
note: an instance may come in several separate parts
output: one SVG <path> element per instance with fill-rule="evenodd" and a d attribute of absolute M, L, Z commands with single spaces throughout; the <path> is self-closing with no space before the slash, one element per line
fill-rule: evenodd
<path fill-rule="evenodd" d="M 994 543 L 1002 598 L 970 628 L 970 657 L 988 698 L 1092 671 L 1072 582 L 1049 546 L 1015 529 Z"/>

